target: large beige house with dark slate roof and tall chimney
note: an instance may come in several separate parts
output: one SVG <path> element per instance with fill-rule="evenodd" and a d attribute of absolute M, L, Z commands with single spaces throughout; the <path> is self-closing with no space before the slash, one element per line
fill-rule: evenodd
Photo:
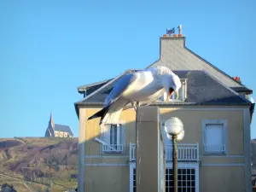
<path fill-rule="evenodd" d="M 178 143 L 178 191 L 252 191 L 253 105 L 248 98 L 253 90 L 188 49 L 182 34 L 160 38 L 160 59 L 148 67 L 157 65 L 169 67 L 183 83 L 178 100 L 173 97 L 166 103 L 160 98 L 152 104 L 159 106 L 163 124 L 172 116 L 183 121 L 185 137 Z M 86 121 L 102 108 L 115 81 L 131 71 L 78 88 L 84 94 L 75 103 L 79 191 L 136 191 L 134 109 L 123 111 L 119 124 L 104 130 L 99 119 Z M 171 192 L 172 143 L 165 140 L 166 192 Z"/>

